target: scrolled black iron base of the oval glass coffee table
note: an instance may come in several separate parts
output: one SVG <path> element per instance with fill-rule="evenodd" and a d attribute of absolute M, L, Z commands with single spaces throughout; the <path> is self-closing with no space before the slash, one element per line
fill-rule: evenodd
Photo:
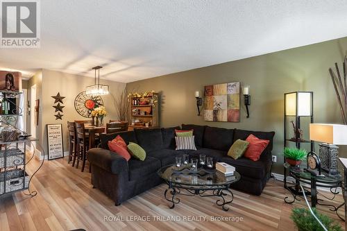
<path fill-rule="evenodd" d="M 180 198 L 177 198 L 178 195 L 183 196 L 201 196 L 201 197 L 209 197 L 209 196 L 218 196 L 219 199 L 216 201 L 216 204 L 218 206 L 221 206 L 221 208 L 224 211 L 228 211 L 229 208 L 226 207 L 226 205 L 232 203 L 232 200 L 234 200 L 234 194 L 232 194 L 232 191 L 229 189 L 230 185 L 226 185 L 223 187 L 211 187 L 211 188 L 199 188 L 199 187 L 184 187 L 183 185 L 172 185 L 171 183 L 168 183 L 169 188 L 165 190 L 164 197 L 167 201 L 171 203 L 169 205 L 170 209 L 173 209 L 176 204 L 180 203 Z M 182 193 L 181 189 L 184 189 L 187 193 Z M 207 191 L 212 191 L 212 194 L 205 194 Z M 226 194 L 226 192 L 229 192 L 230 194 Z M 226 200 L 226 196 L 231 196 L 231 200 Z"/>

